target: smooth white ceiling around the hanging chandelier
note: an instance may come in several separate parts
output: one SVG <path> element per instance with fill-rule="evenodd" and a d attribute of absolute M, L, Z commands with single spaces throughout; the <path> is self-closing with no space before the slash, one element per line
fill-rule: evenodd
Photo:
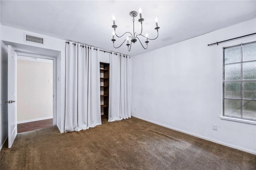
<path fill-rule="evenodd" d="M 130 56 L 145 53 L 214 30 L 256 18 L 256 1 L 5 1 L 1 0 L 1 24 L 63 40 L 80 42 Z M 124 43 L 114 49 L 112 15 L 116 33 L 132 32 L 130 11 L 142 8 L 143 32 L 159 37 L 145 50 L 136 42 L 128 52 Z M 139 17 L 135 32 L 140 32 Z M 124 38 L 116 38 L 120 45 Z M 145 38 L 144 38 L 145 39 Z M 143 38 L 141 39 L 144 42 Z M 220 40 L 216 40 L 220 41 Z M 211 43 L 211 42 L 209 42 Z"/>

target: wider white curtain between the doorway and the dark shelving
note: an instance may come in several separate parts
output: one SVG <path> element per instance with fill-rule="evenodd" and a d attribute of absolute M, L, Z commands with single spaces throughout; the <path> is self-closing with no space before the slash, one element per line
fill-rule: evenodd
<path fill-rule="evenodd" d="M 65 132 L 101 125 L 99 49 L 75 44 L 66 44 Z"/>

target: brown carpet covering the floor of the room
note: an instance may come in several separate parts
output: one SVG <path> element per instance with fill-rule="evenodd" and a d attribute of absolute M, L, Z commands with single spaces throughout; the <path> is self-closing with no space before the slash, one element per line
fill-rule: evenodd
<path fill-rule="evenodd" d="M 132 118 L 80 132 L 18 134 L 1 151 L 1 170 L 9 169 L 255 170 L 256 155 Z"/>

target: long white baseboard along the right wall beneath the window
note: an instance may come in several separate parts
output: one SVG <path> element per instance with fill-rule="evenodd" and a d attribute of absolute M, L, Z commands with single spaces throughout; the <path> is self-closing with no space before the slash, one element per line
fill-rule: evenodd
<path fill-rule="evenodd" d="M 170 129 L 172 129 L 172 130 L 176 130 L 176 131 L 179 131 L 179 132 L 182 132 L 182 133 L 190 134 L 190 135 L 196 136 L 196 137 L 198 137 L 198 138 L 202 138 L 202 139 L 205 139 L 205 140 L 214 142 L 214 143 L 222 144 L 222 145 L 228 146 L 228 147 L 230 147 L 230 148 L 235 148 L 235 149 L 242 150 L 242 151 L 244 151 L 244 152 L 248 152 L 248 153 L 251 153 L 251 154 L 256 155 L 256 152 L 254 152 L 254 151 L 252 151 L 252 150 L 248 150 L 248 149 L 245 149 L 245 148 L 240 148 L 240 147 L 234 146 L 234 145 L 232 145 L 232 144 L 228 144 L 228 143 L 225 143 L 225 142 L 220 142 L 220 141 L 218 141 L 218 140 L 214 140 L 214 139 L 211 139 L 211 138 L 207 138 L 207 137 L 205 137 L 205 136 L 201 136 L 201 135 L 198 135 L 198 134 L 190 133 L 190 132 L 187 132 L 187 131 L 184 131 L 184 130 L 180 130 L 180 129 L 178 129 L 178 128 L 169 127 L 169 126 L 163 125 L 163 124 L 161 124 L 161 123 L 156 123 L 156 122 L 154 122 L 154 121 L 150 121 L 150 120 L 148 120 L 148 119 L 144 119 L 144 118 L 141 118 L 141 117 L 138 117 L 138 116 L 132 115 L 132 117 L 136 117 L 136 118 L 138 118 L 138 119 L 141 119 L 141 120 L 144 120 L 144 121 L 147 121 L 147 122 L 150 122 L 150 123 L 154 123 L 154 124 L 160 125 L 160 126 L 162 126 L 162 127 L 170 128 Z"/>

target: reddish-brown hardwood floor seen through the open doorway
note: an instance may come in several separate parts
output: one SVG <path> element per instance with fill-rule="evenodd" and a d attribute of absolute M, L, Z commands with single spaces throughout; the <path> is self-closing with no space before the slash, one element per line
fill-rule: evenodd
<path fill-rule="evenodd" d="M 52 119 L 45 119 L 42 121 L 34 121 L 28 123 L 18 124 L 18 133 L 28 132 L 31 130 L 36 130 L 40 128 L 52 127 Z"/>

